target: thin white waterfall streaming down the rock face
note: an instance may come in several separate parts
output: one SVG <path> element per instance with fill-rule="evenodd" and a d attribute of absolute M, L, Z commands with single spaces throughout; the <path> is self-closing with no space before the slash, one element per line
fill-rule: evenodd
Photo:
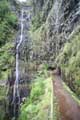
<path fill-rule="evenodd" d="M 14 82 L 14 89 L 13 89 L 13 103 L 14 103 L 14 117 L 18 115 L 19 112 L 19 105 L 20 105 L 20 94 L 19 94 L 19 48 L 23 41 L 23 9 L 21 10 L 21 33 L 20 33 L 20 40 L 16 46 L 16 79 Z"/>

